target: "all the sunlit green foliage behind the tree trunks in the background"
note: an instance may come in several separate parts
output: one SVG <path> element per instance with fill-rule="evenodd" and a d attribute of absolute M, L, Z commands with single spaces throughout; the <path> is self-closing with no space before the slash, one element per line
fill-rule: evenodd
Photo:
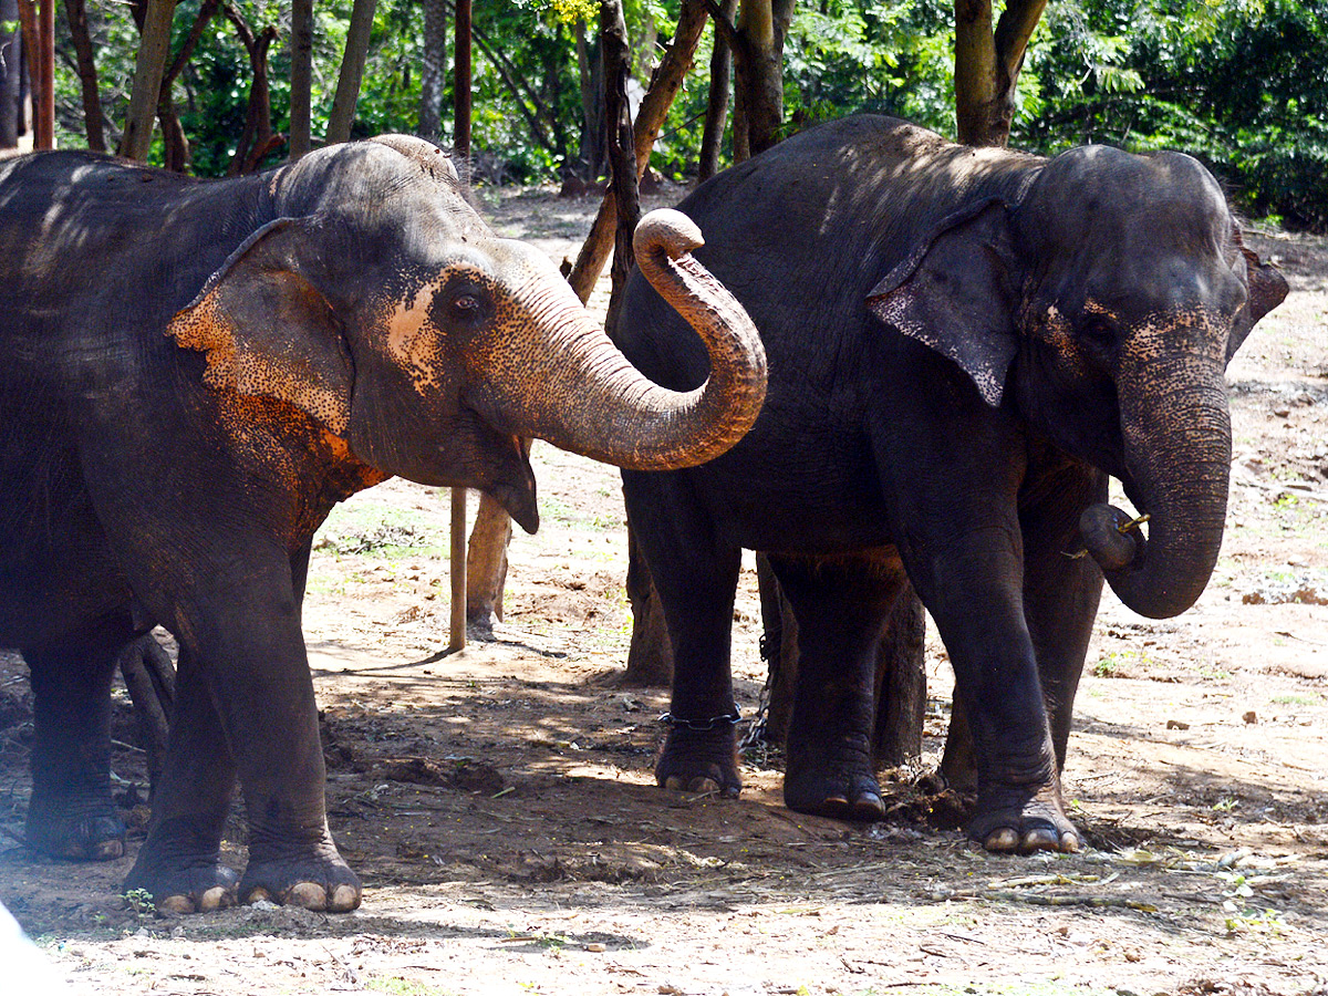
<path fill-rule="evenodd" d="M 181 0 L 179 50 L 202 0 Z M 272 126 L 290 125 L 290 4 L 228 0 L 179 74 L 175 106 L 194 173 L 226 171 L 244 126 L 252 78 L 235 20 L 274 28 Z M 450 4 L 448 5 L 450 17 Z M 583 89 L 598 85 L 594 0 L 474 0 L 477 177 L 583 179 Z M 679 0 L 628 0 L 635 76 L 644 84 L 667 44 Z M 321 134 L 336 86 L 351 0 L 317 3 L 313 121 Z M 587 17 L 592 27 L 587 28 Z M 138 29 L 127 4 L 88 4 L 108 143 L 124 125 Z M 696 169 L 713 32 L 706 33 L 653 165 L 673 178 Z M 785 39 L 785 129 L 854 112 L 896 114 L 955 133 L 954 5 L 950 0 L 801 0 Z M 424 4 L 380 0 L 355 133 L 416 131 L 424 65 Z M 1084 142 L 1199 157 L 1255 216 L 1328 228 L 1328 0 L 1052 0 L 1019 81 L 1011 145 L 1054 153 Z M 68 24 L 57 19 L 57 142 L 85 145 Z M 444 53 L 449 56 L 450 53 Z M 450 133 L 452 80 L 441 134 Z M 590 124 L 587 124 L 590 122 Z M 284 146 L 270 162 L 282 159 Z M 732 155 L 725 147 L 724 157 Z M 159 133 L 151 161 L 162 162 Z M 724 159 L 721 158 L 721 165 Z"/>

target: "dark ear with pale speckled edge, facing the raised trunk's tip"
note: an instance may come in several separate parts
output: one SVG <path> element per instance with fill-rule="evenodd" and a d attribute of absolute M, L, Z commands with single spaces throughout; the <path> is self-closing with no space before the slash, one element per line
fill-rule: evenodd
<path fill-rule="evenodd" d="M 991 198 L 946 218 L 872 288 L 867 307 L 957 363 L 996 408 L 1019 349 L 1015 271 L 1009 215 Z"/>

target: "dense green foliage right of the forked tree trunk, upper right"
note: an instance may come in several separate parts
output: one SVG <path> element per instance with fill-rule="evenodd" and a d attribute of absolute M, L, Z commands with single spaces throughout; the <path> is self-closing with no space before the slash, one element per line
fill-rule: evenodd
<path fill-rule="evenodd" d="M 1246 210 L 1328 226 L 1328 0 L 1062 0 L 1045 20 L 1017 143 L 1181 149 Z"/>

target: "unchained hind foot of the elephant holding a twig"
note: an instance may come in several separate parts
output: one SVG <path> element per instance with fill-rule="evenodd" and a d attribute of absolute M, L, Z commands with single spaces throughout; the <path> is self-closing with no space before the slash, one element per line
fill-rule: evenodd
<path fill-rule="evenodd" d="M 874 822 L 884 819 L 886 803 L 871 766 L 870 738 L 849 737 L 826 749 L 789 737 L 784 774 L 784 803 L 798 813 Z"/>

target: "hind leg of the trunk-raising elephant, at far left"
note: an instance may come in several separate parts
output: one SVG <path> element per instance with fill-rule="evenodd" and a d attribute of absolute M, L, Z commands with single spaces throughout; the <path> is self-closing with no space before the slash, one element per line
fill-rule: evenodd
<path fill-rule="evenodd" d="M 110 797 L 110 680 L 133 639 L 127 614 L 23 648 L 32 672 L 32 799 L 27 843 L 68 861 L 125 854 L 125 825 Z"/>

